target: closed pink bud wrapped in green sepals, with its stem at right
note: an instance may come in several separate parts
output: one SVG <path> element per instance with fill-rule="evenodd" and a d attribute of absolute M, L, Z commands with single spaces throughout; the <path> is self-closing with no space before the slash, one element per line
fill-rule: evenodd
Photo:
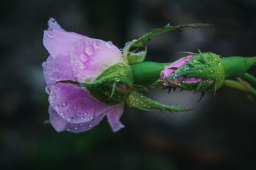
<path fill-rule="evenodd" d="M 191 53 L 164 66 L 164 86 L 207 92 L 219 89 L 225 79 L 241 76 L 256 63 L 256 57 L 223 57 L 212 52 Z"/>

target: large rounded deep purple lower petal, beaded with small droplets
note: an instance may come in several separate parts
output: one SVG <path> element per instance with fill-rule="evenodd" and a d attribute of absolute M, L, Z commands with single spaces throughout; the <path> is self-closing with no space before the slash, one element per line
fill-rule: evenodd
<path fill-rule="evenodd" d="M 61 117 L 76 124 L 90 122 L 111 108 L 97 101 L 83 87 L 67 83 L 52 85 L 49 103 Z"/>

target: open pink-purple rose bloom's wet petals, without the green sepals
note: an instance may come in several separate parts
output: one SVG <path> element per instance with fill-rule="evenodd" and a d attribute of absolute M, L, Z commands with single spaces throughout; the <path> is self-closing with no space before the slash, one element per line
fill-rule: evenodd
<path fill-rule="evenodd" d="M 83 132 L 92 129 L 107 115 L 114 132 L 124 125 L 119 119 L 124 103 L 108 106 L 88 90 L 60 80 L 92 82 L 108 67 L 124 62 L 120 50 L 111 41 L 88 38 L 67 32 L 51 18 L 44 31 L 43 43 L 50 53 L 43 63 L 49 94 L 50 122 L 56 131 Z"/>

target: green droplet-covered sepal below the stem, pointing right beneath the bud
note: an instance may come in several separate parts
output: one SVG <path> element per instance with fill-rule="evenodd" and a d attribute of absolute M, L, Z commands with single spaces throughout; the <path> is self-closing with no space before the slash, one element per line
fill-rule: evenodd
<path fill-rule="evenodd" d="M 166 104 L 157 103 L 156 101 L 153 101 L 152 99 L 149 99 L 148 97 L 145 97 L 134 90 L 132 90 L 127 99 L 125 99 L 125 102 L 128 104 L 130 108 L 145 111 L 151 111 L 151 109 L 170 112 L 192 110 L 190 108 L 180 108 L 178 106 L 168 106 Z"/>

